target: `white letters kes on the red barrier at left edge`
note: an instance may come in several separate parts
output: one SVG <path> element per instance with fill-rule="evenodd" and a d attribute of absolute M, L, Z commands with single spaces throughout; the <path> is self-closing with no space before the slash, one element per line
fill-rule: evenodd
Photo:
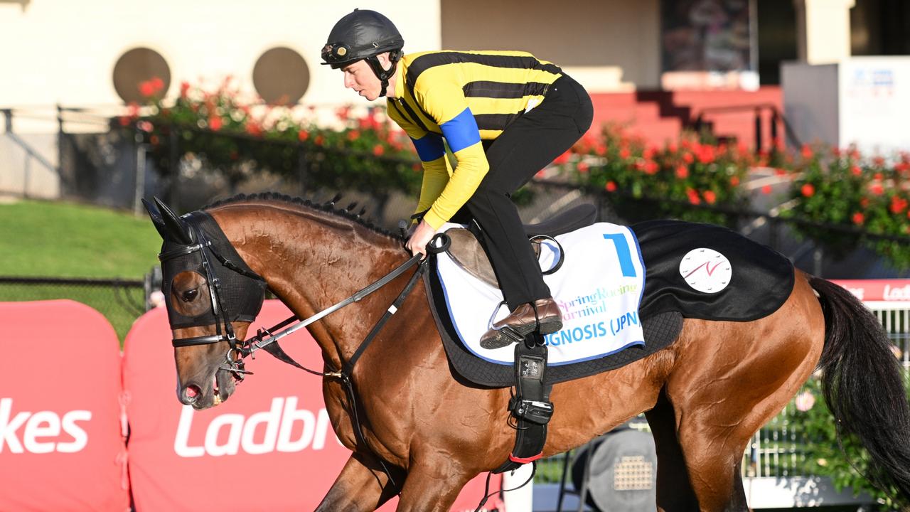
<path fill-rule="evenodd" d="M 88 434 L 79 425 L 92 419 L 91 411 L 14 413 L 13 399 L 0 398 L 0 453 L 74 454 L 88 444 Z"/>

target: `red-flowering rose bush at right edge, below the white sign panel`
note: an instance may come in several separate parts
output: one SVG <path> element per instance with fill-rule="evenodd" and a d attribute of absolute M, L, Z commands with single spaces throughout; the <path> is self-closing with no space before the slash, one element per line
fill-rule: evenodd
<path fill-rule="evenodd" d="M 867 233 L 893 236 L 910 234 L 910 154 L 893 165 L 885 159 L 864 159 L 855 149 L 816 152 L 805 146 L 795 165 L 789 198 L 791 218 L 854 227 Z M 899 241 L 875 241 L 864 233 L 835 232 L 799 226 L 804 236 L 829 251 L 844 254 L 862 242 L 895 265 L 910 265 L 910 246 Z"/>

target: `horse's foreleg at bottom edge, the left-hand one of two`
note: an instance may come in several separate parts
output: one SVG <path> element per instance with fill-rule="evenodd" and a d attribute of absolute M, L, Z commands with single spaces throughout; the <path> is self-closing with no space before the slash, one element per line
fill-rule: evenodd
<path fill-rule="evenodd" d="M 388 466 L 388 465 L 387 465 Z M 389 467 L 395 484 L 370 456 L 354 454 L 348 459 L 317 512 L 371 512 L 398 494 L 404 473 Z"/>

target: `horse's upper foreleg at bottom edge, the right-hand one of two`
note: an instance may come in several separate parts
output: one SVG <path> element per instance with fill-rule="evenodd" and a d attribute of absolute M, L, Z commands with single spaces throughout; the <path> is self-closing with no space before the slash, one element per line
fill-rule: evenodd
<path fill-rule="evenodd" d="M 397 512 L 448 512 L 468 475 L 448 457 L 434 457 L 410 467 Z"/>

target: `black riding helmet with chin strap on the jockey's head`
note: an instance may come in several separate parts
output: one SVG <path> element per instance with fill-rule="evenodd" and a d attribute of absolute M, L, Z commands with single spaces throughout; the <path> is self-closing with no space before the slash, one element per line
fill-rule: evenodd
<path fill-rule="evenodd" d="M 389 78 L 398 67 L 402 46 L 404 39 L 389 18 L 376 11 L 354 9 L 332 27 L 329 41 L 322 47 L 322 60 L 325 61 L 322 64 L 338 69 L 361 59 L 366 60 L 382 82 L 379 96 L 385 96 Z M 384 52 L 389 52 L 392 62 L 388 70 L 383 69 L 376 58 Z"/>

